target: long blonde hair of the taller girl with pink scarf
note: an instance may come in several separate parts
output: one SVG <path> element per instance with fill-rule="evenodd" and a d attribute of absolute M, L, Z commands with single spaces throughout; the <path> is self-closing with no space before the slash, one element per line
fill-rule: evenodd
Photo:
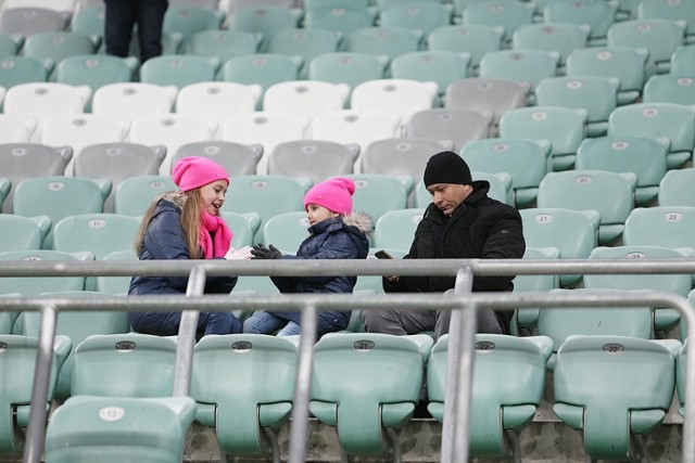
<path fill-rule="evenodd" d="M 188 255 L 191 259 L 198 259 L 200 257 L 200 216 L 201 216 L 201 204 L 202 196 L 200 193 L 200 188 L 182 192 L 172 192 L 169 194 L 177 194 L 181 196 L 181 201 L 174 202 L 177 206 L 181 208 L 181 229 L 184 230 L 184 236 L 186 237 L 186 246 L 188 247 Z M 150 226 L 150 221 L 152 221 L 152 216 L 154 216 L 154 210 L 156 209 L 157 204 L 167 194 L 157 196 L 154 202 L 150 205 L 148 210 L 142 216 L 142 221 L 140 222 L 140 228 L 138 233 L 136 234 L 135 240 L 135 252 L 140 257 L 142 253 L 142 244 L 144 242 L 144 234 Z"/>

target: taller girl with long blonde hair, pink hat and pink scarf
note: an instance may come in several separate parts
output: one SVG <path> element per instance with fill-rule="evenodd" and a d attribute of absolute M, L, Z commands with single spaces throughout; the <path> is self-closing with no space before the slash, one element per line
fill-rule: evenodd
<path fill-rule="evenodd" d="M 180 159 L 172 173 L 178 191 L 163 193 L 142 218 L 135 248 L 140 260 L 155 259 L 250 259 L 251 247 L 230 248 L 231 230 L 219 217 L 229 185 L 225 168 L 205 157 Z M 236 276 L 212 276 L 205 293 L 229 293 Z M 134 276 L 128 295 L 185 295 L 188 276 Z M 181 312 L 130 312 L 130 325 L 140 333 L 178 334 Z M 200 312 L 198 329 L 207 334 L 241 332 L 231 312 Z"/>

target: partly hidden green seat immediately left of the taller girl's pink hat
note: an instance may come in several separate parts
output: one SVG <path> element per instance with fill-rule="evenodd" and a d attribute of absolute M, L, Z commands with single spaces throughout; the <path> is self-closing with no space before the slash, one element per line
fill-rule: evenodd
<path fill-rule="evenodd" d="M 156 195 L 176 189 L 172 176 L 129 177 L 121 182 L 115 192 L 114 213 L 124 216 L 142 216 Z"/>

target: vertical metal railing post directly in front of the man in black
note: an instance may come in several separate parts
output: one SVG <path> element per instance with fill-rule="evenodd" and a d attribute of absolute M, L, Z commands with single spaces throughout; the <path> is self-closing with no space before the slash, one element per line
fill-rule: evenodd
<path fill-rule="evenodd" d="M 465 267 L 460 269 L 456 275 L 454 294 L 456 296 L 470 294 L 472 285 L 472 271 L 470 267 Z M 442 423 L 442 463 L 467 461 L 458 458 L 462 455 L 460 449 L 458 448 L 458 439 L 460 438 L 460 428 L 464 428 L 466 439 L 464 447 L 468 449 L 468 410 L 470 402 L 470 381 L 472 377 L 472 353 L 471 348 L 467 348 L 467 346 L 472 344 L 471 336 L 475 338 L 476 323 L 476 310 L 473 307 L 452 309 L 448 347 L 446 349 L 445 407 Z M 464 395 L 462 395 L 462 390 L 464 390 Z M 462 413 L 466 414 L 463 422 L 460 420 Z"/>

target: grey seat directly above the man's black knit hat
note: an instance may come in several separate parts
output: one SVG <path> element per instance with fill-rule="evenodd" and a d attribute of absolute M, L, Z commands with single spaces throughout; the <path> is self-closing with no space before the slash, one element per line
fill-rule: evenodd
<path fill-rule="evenodd" d="M 491 112 L 481 114 L 464 108 L 434 107 L 410 116 L 407 137 L 437 140 L 460 151 L 467 143 L 486 139 L 493 131 Z"/>

